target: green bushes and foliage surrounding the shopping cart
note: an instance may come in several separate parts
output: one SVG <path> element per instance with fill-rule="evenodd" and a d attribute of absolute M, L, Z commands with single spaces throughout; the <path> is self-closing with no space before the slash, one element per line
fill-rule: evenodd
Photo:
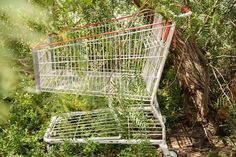
<path fill-rule="evenodd" d="M 173 18 L 172 0 L 0 0 L 0 156 L 155 156 L 156 148 L 140 145 L 57 145 L 46 153 L 43 134 L 51 116 L 97 108 L 99 100 L 73 95 L 36 93 L 31 48 L 49 32 L 59 32 L 149 7 Z M 210 99 L 218 117 L 219 137 L 236 137 L 236 4 L 233 0 L 179 0 L 193 12 L 177 20 L 186 42 L 194 39 L 207 59 Z M 140 6 L 137 6 L 140 4 Z M 174 9 L 175 10 L 175 9 Z M 178 10 L 177 10 L 178 11 Z M 185 90 L 178 81 L 178 64 L 170 54 L 158 91 L 170 128 L 184 112 Z M 87 103 L 92 106 L 87 106 Z M 187 125 L 187 124 L 186 124 Z M 231 155 L 236 152 L 232 145 Z M 219 155 L 219 154 L 218 154 Z M 224 154 L 223 154 L 224 155 Z M 226 155 L 226 154 L 225 154 Z"/>

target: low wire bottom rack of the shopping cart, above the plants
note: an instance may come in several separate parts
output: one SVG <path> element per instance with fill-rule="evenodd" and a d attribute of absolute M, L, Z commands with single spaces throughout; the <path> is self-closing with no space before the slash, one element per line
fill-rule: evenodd
<path fill-rule="evenodd" d="M 143 139 L 150 140 L 152 144 L 163 142 L 163 128 L 151 107 L 132 108 L 127 112 L 129 114 L 123 119 L 114 116 L 111 109 L 71 112 L 53 117 L 44 140 L 51 144 L 62 141 L 81 143 L 88 140 L 134 144 Z"/>

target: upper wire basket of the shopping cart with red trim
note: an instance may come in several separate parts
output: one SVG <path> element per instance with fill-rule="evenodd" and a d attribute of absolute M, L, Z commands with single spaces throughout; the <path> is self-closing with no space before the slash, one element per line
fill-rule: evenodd
<path fill-rule="evenodd" d="M 172 27 L 154 15 L 138 14 L 83 26 L 63 36 L 51 34 L 49 43 L 34 48 L 37 87 L 150 100 Z"/>

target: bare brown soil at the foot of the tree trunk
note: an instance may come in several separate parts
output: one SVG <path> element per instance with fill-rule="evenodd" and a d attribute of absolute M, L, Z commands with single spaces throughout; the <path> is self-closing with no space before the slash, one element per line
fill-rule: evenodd
<path fill-rule="evenodd" d="M 202 140 L 197 128 L 189 128 L 180 125 L 167 130 L 167 143 L 170 148 L 176 150 L 179 157 L 236 157 L 232 151 L 236 140 L 232 137 L 214 136 L 212 142 L 214 146 L 196 146 Z"/>

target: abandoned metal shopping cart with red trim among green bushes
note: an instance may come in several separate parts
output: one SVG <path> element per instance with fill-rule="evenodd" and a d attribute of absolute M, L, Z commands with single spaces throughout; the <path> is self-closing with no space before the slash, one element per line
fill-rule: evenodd
<path fill-rule="evenodd" d="M 150 11 L 50 34 L 33 49 L 37 89 L 107 98 L 107 108 L 55 116 L 49 144 L 148 140 L 165 156 L 164 118 L 156 92 L 175 23 Z M 125 104 L 125 105 L 123 105 Z"/>

